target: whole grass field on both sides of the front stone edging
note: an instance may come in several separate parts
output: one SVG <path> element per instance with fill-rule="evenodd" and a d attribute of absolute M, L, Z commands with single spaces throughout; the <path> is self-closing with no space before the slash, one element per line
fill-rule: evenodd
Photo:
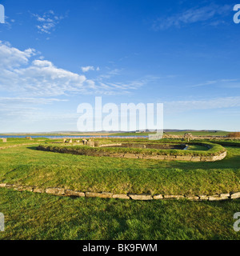
<path fill-rule="evenodd" d="M 22 142 L 0 150 L 0 182 L 136 194 L 240 191 L 236 146 L 226 146 L 221 162 L 170 162 L 58 154 Z M 0 189 L 6 216 L 0 239 L 239 239 L 233 230 L 239 202 L 73 199 Z"/>

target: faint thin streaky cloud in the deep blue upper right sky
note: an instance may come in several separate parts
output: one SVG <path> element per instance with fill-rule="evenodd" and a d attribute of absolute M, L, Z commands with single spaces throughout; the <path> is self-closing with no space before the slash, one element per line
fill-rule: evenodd
<path fill-rule="evenodd" d="M 194 7 L 170 17 L 158 18 L 154 21 L 153 28 L 154 30 L 166 30 L 172 26 L 180 28 L 196 22 L 209 22 L 210 26 L 218 26 L 223 22 L 222 17 L 230 14 L 232 9 L 231 5 L 219 6 L 216 4 Z"/>

